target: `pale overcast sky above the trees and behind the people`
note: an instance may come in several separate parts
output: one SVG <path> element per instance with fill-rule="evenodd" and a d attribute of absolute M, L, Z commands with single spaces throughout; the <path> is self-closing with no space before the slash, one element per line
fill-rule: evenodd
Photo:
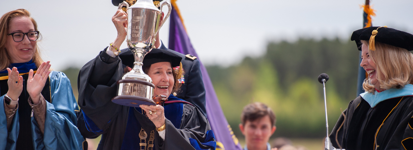
<path fill-rule="evenodd" d="M 192 45 L 206 65 L 228 66 L 265 53 L 268 41 L 298 37 L 347 39 L 362 27 L 365 0 L 178 0 Z M 43 59 L 52 68 L 81 67 L 116 37 L 110 0 L 7 0 L 0 14 L 24 8 L 43 35 Z M 373 0 L 374 26 L 412 33 L 413 0 Z M 169 19 L 168 19 L 169 21 Z M 168 43 L 169 23 L 160 37 Z M 121 48 L 126 48 L 125 42 Z"/>

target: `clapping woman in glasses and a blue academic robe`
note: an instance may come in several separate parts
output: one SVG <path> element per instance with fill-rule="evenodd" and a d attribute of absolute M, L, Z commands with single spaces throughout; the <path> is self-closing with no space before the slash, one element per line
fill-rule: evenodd
<path fill-rule="evenodd" d="M 0 149 L 82 150 L 70 81 L 43 62 L 39 36 L 25 9 L 0 18 Z"/>

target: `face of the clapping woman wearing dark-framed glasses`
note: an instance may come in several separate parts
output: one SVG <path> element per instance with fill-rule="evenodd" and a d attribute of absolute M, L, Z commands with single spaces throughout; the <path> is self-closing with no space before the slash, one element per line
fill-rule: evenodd
<path fill-rule="evenodd" d="M 27 33 L 34 31 L 34 25 L 31 19 L 26 16 L 16 17 L 9 22 L 8 33 L 23 32 Z M 28 37 L 24 35 L 23 41 L 14 42 L 13 36 L 7 36 L 6 49 L 12 63 L 28 62 L 33 58 L 36 52 L 37 41 L 30 41 Z"/>

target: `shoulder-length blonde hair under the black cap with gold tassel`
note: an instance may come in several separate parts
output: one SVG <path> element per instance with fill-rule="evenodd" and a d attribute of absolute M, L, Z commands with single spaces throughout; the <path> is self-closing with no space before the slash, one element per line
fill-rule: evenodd
<path fill-rule="evenodd" d="M 362 40 L 362 45 L 369 46 L 368 41 Z M 376 64 L 376 77 L 380 88 L 403 88 L 413 83 L 413 54 L 404 48 L 375 43 L 375 51 L 368 50 L 370 58 Z M 374 93 L 375 88 L 366 78 L 363 83 L 366 92 Z"/>

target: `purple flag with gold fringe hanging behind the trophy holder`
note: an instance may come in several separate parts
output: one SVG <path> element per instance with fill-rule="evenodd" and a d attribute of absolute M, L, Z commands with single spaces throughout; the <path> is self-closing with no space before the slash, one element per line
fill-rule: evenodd
<path fill-rule="evenodd" d="M 174 6 L 176 5 L 172 2 L 171 22 L 169 26 L 169 49 L 185 55 L 190 54 L 199 59 Z M 232 128 L 228 125 L 224 113 L 222 112 L 211 79 L 209 78 L 207 69 L 202 65 L 202 62 L 201 73 L 206 92 L 207 118 L 212 131 L 214 131 L 217 142 L 216 150 L 242 150 L 238 139 L 233 134 Z"/>

